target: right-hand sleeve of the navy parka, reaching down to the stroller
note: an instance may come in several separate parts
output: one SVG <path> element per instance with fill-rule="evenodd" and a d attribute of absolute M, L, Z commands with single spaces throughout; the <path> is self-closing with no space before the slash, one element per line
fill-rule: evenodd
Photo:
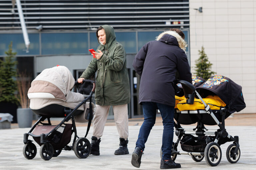
<path fill-rule="evenodd" d="M 177 56 L 177 70 L 179 72 L 179 78 L 181 80 L 192 83 L 192 75 L 190 72 L 190 66 L 188 64 L 188 58 L 184 51 L 180 56 Z"/>

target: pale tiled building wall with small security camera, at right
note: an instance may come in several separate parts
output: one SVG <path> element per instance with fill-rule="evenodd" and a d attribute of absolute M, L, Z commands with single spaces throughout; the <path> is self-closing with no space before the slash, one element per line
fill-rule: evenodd
<path fill-rule="evenodd" d="M 256 113 L 256 0 L 189 0 L 189 16 L 191 72 L 204 46 L 212 70 L 242 86 L 239 113 Z"/>

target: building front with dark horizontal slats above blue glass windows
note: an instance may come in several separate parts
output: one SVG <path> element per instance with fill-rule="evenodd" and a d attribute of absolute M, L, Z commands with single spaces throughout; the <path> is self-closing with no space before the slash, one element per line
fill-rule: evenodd
<path fill-rule="evenodd" d="M 15 1 L 0 0 L 0 57 L 13 42 L 17 68 L 35 77 L 43 69 L 64 65 L 77 79 L 92 59 L 88 49 L 96 49 L 96 29 L 114 27 L 117 41 L 127 53 L 131 102 L 129 118 L 142 117 L 138 105 L 140 77 L 132 67 L 138 50 L 163 31 L 179 28 L 189 44 L 188 0 L 26 0 L 21 1 L 30 46 L 28 51 L 21 31 Z M 187 56 L 190 51 L 187 47 Z M 92 77 L 93 79 L 93 77 Z M 110 111 L 109 118 L 113 118 Z"/>

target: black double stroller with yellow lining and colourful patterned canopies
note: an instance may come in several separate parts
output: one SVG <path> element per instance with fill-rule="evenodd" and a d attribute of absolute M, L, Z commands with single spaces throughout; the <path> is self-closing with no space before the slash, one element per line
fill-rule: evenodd
<path fill-rule="evenodd" d="M 184 80 L 177 80 L 177 83 L 179 90 L 175 96 L 174 119 L 178 137 L 172 144 L 171 159 L 175 160 L 177 155 L 189 155 L 196 162 L 205 158 L 208 165 L 217 166 L 222 156 L 220 145 L 233 142 L 226 150 L 226 157 L 230 163 L 236 163 L 241 153 L 239 139 L 226 131 L 225 119 L 245 108 L 242 87 L 221 75 L 212 76 L 207 81 L 192 76 L 193 85 Z M 181 124 L 195 123 L 197 126 L 193 129 L 181 127 Z M 218 129 L 210 131 L 204 125 L 217 125 Z M 179 142 L 185 152 L 177 150 Z"/>

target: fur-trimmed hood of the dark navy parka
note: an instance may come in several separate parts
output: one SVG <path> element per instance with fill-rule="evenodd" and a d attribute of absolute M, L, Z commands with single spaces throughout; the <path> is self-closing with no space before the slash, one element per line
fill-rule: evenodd
<path fill-rule="evenodd" d="M 186 47 L 188 46 L 185 40 L 183 40 L 181 36 L 175 31 L 165 31 L 161 33 L 158 37 L 156 37 L 156 40 L 172 45 L 178 45 L 184 51 L 186 51 Z"/>

